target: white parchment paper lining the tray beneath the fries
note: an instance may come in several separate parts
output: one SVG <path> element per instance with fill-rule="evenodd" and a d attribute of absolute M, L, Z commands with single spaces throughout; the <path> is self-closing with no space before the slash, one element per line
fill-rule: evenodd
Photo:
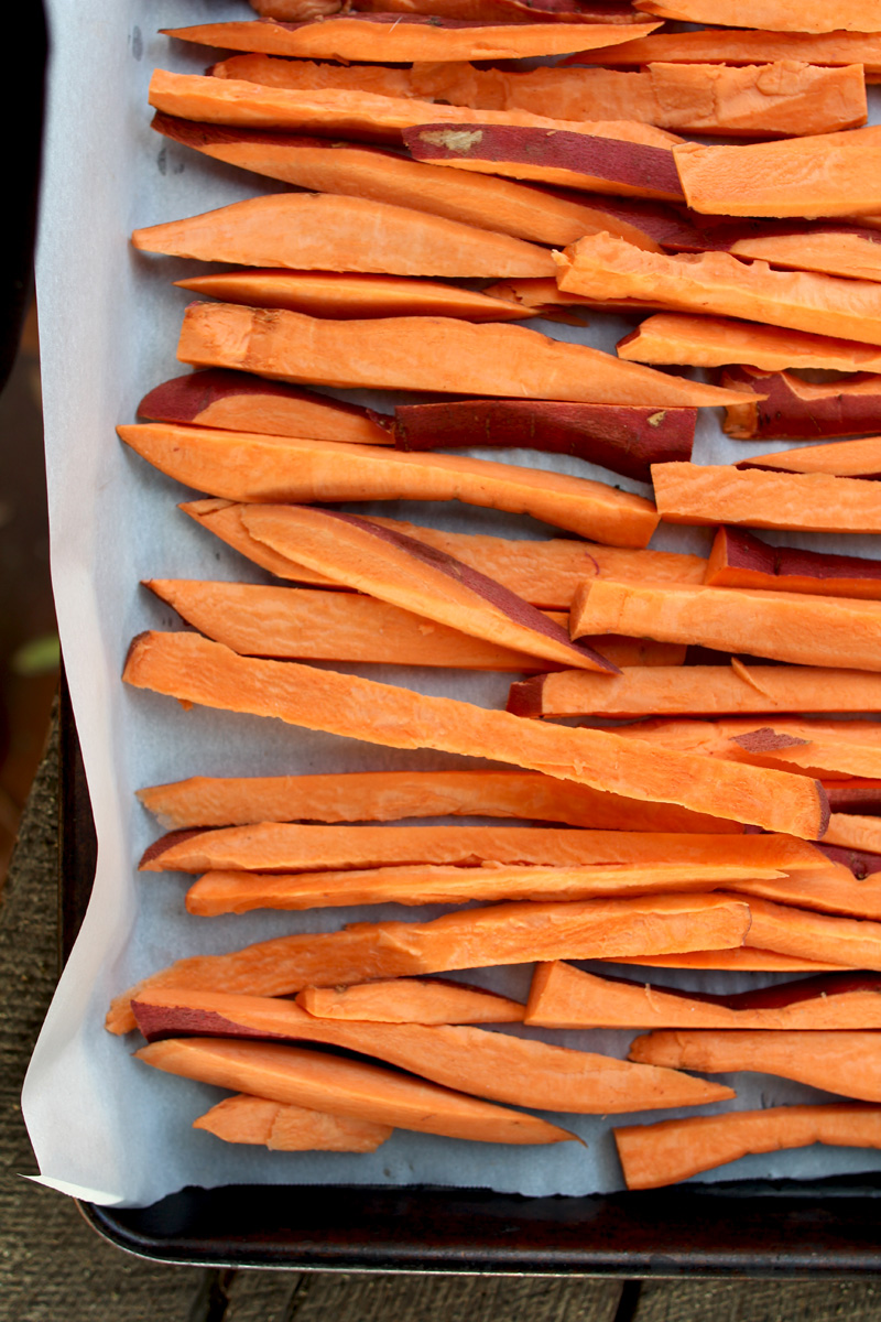
<path fill-rule="evenodd" d="M 376 1153 L 268 1153 L 193 1132 L 192 1121 L 218 1089 L 155 1072 L 131 1058 L 132 1040 L 110 1036 L 110 998 L 173 958 L 221 952 L 295 931 L 329 931 L 355 917 L 427 917 L 432 910 L 329 910 L 313 915 L 254 914 L 197 919 L 182 908 L 180 874 L 136 873 L 159 830 L 137 804 L 140 785 L 202 775 L 474 765 L 432 752 L 404 752 L 309 732 L 277 720 L 193 709 L 129 691 L 119 680 L 131 637 L 176 628 L 170 608 L 139 587 L 143 578 L 223 578 L 268 582 L 176 510 L 192 496 L 122 446 L 115 426 L 131 422 L 141 395 L 181 373 L 174 349 L 185 291 L 174 290 L 198 263 L 135 253 L 135 226 L 156 223 L 275 190 L 272 181 L 217 165 L 149 128 L 147 87 L 159 65 L 202 71 L 194 53 L 157 34 L 162 26 L 248 17 L 234 0 L 135 0 L 75 5 L 50 0 L 52 40 L 44 190 L 37 259 L 42 387 L 49 480 L 52 570 L 65 665 L 99 842 L 88 914 L 46 1018 L 25 1083 L 22 1108 L 44 1183 L 103 1204 L 140 1206 L 185 1185 L 369 1183 L 453 1185 L 503 1192 L 588 1194 L 621 1187 L 610 1125 L 563 1117 L 588 1142 L 506 1147 L 396 1132 Z M 277 185 L 280 188 L 280 185 Z M 634 324 L 597 316 L 586 330 L 532 323 L 557 338 L 612 349 Z M 363 394 L 346 398 L 366 398 Z M 371 401 L 376 405 L 376 397 Z M 391 397 L 383 407 L 391 406 Z M 729 461 L 769 448 L 725 440 L 703 411 L 697 463 Z M 479 451 L 474 451 L 479 453 Z M 491 457 L 498 459 L 498 452 Z M 601 469 L 557 456 L 514 452 L 511 461 L 608 480 Z M 621 477 L 616 484 L 646 492 Z M 365 509 L 365 506 L 362 506 Z M 380 506 L 374 506 L 380 512 Z M 547 535 L 547 527 L 470 506 L 383 505 L 413 522 Z M 820 539 L 770 534 L 771 541 Z M 667 529 L 654 546 L 705 550 L 709 533 Z M 826 538 L 828 549 L 877 554 L 872 538 Z M 424 693 L 502 706 L 511 676 L 346 668 Z M 458 977 L 524 998 L 526 966 Z M 654 970 L 652 978 L 696 985 L 692 974 Z M 704 988 L 745 985 L 744 976 L 709 974 Z M 765 978 L 762 981 L 775 981 Z M 519 1031 L 523 1035 L 538 1030 Z M 546 1032 L 546 1040 L 625 1055 L 631 1034 Z M 819 1100 L 826 1095 L 783 1080 L 741 1075 L 741 1108 Z M 712 1109 L 703 1108 L 700 1113 Z M 693 1113 L 680 1112 L 682 1114 Z M 675 1114 L 664 1112 L 663 1116 Z M 560 1118 L 560 1117 L 555 1117 Z M 635 1118 L 659 1118 L 658 1113 Z M 631 1122 L 633 1116 L 619 1122 Z M 753 1157 L 703 1177 L 818 1177 L 881 1169 L 881 1154 L 811 1149 Z"/>

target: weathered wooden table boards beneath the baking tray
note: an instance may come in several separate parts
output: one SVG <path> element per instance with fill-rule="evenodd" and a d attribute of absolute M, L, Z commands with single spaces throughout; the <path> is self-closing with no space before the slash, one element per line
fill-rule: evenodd
<path fill-rule="evenodd" d="M 168 1266 L 102 1240 L 36 1170 L 18 1095 L 57 970 L 58 739 L 0 899 L 0 1322 L 848 1322 L 881 1282 L 229 1272 Z"/>

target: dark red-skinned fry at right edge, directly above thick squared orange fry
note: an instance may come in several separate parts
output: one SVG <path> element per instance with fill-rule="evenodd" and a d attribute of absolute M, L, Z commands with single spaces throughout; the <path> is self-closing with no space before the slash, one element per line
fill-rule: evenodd
<path fill-rule="evenodd" d="M 818 596 L 881 600 L 881 561 L 770 546 L 741 527 L 722 526 L 707 561 L 711 587 L 767 588 Z"/>

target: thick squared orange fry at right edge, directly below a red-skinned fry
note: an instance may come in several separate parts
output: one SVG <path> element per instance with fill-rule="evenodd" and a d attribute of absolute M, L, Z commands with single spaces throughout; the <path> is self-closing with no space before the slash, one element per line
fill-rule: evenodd
<path fill-rule="evenodd" d="M 572 603 L 571 629 L 573 637 L 621 629 L 793 665 L 881 670 L 881 611 L 874 602 L 594 579 Z"/>

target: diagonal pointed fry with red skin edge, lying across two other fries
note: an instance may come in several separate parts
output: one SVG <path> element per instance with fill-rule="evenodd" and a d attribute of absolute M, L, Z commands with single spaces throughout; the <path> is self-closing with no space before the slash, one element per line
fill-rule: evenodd
<path fill-rule="evenodd" d="M 559 620 L 454 557 L 357 514 L 265 505 L 243 514 L 247 530 L 281 555 L 487 644 L 605 674 L 617 666 L 573 645 Z M 573 650 L 575 648 L 575 650 Z"/>

